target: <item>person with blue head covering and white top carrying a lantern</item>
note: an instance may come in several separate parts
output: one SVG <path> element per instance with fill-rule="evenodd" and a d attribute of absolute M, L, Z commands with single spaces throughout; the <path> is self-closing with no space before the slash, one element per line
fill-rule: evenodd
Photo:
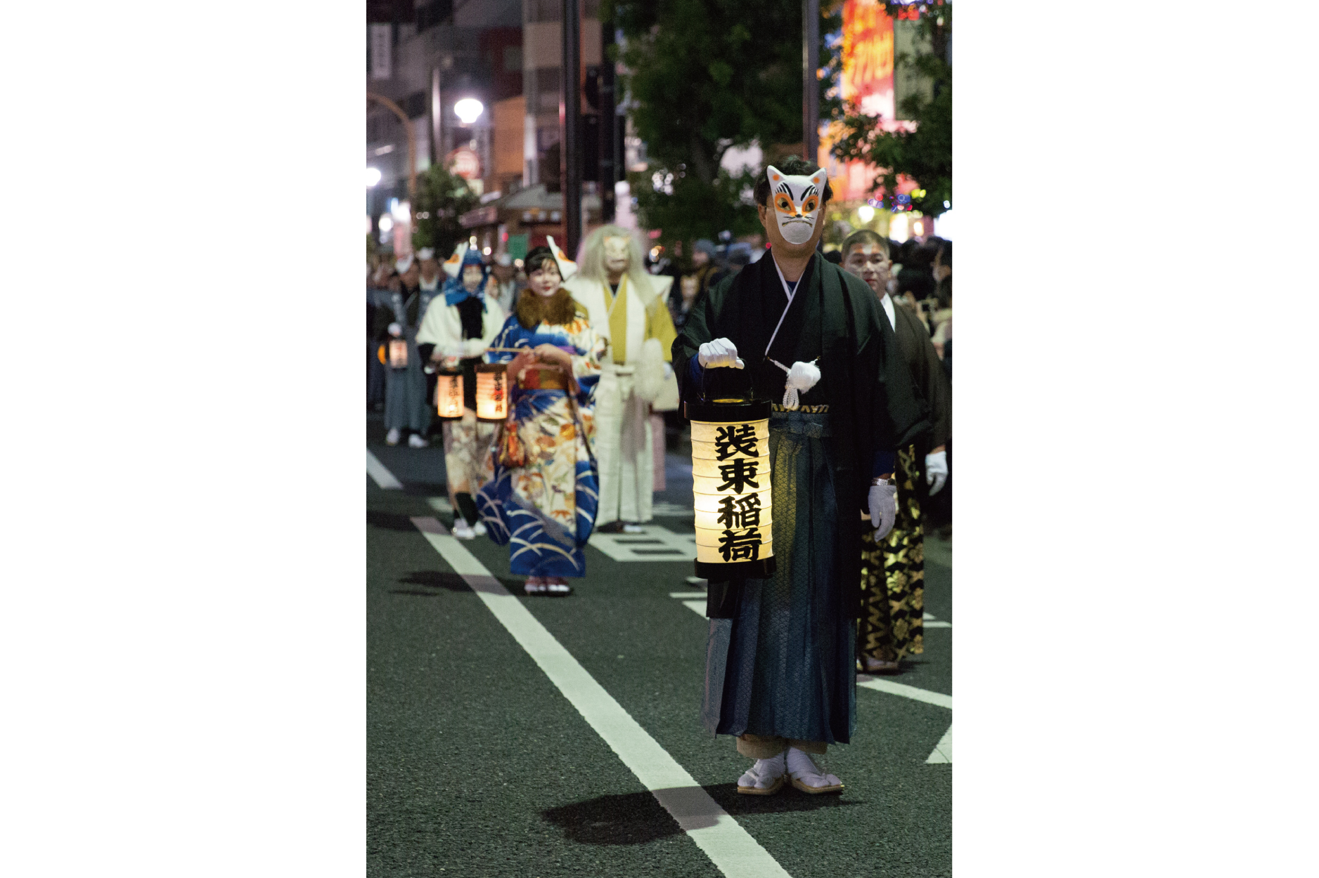
<path fill-rule="evenodd" d="M 493 477 L 491 440 L 495 424 L 476 419 L 476 364 L 504 327 L 504 311 L 485 295 L 488 270 L 481 254 L 467 244 L 455 253 L 459 268 L 445 282 L 443 299 L 426 311 L 417 331 L 417 348 L 433 368 L 463 373 L 463 418 L 442 421 L 445 481 L 454 508 L 454 537 L 472 539 L 485 533 L 476 512 L 476 489 Z M 446 269 L 448 265 L 446 264 Z M 434 405 L 434 397 L 430 397 Z"/>

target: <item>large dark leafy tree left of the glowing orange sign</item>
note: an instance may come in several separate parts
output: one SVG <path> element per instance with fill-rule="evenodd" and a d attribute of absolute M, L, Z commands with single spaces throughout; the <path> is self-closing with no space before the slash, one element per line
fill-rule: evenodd
<path fill-rule="evenodd" d="M 732 146 L 756 141 L 770 156 L 802 142 L 801 0 L 603 0 L 600 16 L 624 33 L 620 86 L 650 157 L 629 174 L 642 223 L 666 243 L 758 232 L 758 169 L 719 163 Z M 820 63 L 831 58 L 822 47 Z M 823 91 L 822 115 L 832 105 Z"/>

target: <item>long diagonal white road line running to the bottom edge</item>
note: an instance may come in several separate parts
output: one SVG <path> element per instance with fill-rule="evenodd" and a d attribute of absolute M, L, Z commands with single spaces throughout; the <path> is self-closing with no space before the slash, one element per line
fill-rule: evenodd
<path fill-rule="evenodd" d="M 438 519 L 412 522 L 719 871 L 728 878 L 790 878 Z"/>

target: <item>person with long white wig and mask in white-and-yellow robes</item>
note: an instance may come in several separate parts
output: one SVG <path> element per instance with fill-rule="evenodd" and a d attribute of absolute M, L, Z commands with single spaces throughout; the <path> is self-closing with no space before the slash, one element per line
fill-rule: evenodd
<path fill-rule="evenodd" d="M 596 389 L 595 454 L 600 464 L 600 533 L 642 533 L 653 518 L 654 443 L 650 403 L 673 374 L 677 337 L 667 276 L 646 274 L 641 244 L 620 225 L 603 225 L 582 245 L 580 270 L 563 286 L 586 306 L 609 352 Z M 663 436 L 658 438 L 663 442 Z"/>

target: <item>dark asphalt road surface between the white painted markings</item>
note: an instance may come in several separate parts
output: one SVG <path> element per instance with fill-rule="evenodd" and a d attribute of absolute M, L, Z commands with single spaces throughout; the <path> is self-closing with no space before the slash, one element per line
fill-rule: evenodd
<path fill-rule="evenodd" d="M 418 518 L 452 525 L 442 451 L 390 448 L 383 435 L 368 421 L 379 464 L 367 477 L 368 874 L 736 873 L 732 854 L 712 857 L 699 831 L 679 827 L 418 529 Z M 685 604 L 700 585 L 687 581 L 691 555 L 681 558 L 692 533 L 683 463 L 669 455 L 654 542 L 590 546 L 570 597 L 528 599 L 506 547 L 460 546 L 727 812 L 731 834 L 749 836 L 783 873 L 950 875 L 951 544 L 927 542 L 925 654 L 878 689 L 860 678 L 856 736 L 824 758 L 843 794 L 741 796 L 751 761 L 699 722 L 708 622 Z M 381 488 L 381 472 L 398 486 Z M 902 687 L 913 691 L 893 691 Z"/>

